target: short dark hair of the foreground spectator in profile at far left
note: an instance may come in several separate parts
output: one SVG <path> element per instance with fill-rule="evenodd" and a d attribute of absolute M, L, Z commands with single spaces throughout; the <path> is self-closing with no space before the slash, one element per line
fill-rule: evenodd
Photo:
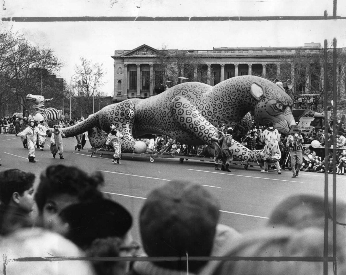
<path fill-rule="evenodd" d="M 4 205 L 10 203 L 12 194 L 23 195 L 34 185 L 35 175 L 19 169 L 9 169 L 0 172 L 0 201 Z"/>

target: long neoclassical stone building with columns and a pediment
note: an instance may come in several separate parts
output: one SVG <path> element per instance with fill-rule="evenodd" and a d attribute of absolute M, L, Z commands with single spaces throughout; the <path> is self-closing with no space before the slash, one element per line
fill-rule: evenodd
<path fill-rule="evenodd" d="M 253 48 L 213 48 L 213 50 L 166 50 L 168 55 L 186 53 L 198 58 L 204 64 L 206 72 L 204 82 L 216 85 L 225 79 L 260 74 L 268 78 L 276 78 L 280 73 L 280 59 L 293 55 L 297 48 L 307 52 L 319 51 L 320 43 L 305 43 L 304 47 L 253 47 Z M 113 102 L 128 98 L 146 98 L 156 95 L 155 85 L 165 79 L 158 72 L 157 50 L 148 45 L 141 45 L 133 50 L 115 50 L 114 55 L 114 96 Z M 274 66 L 273 66 L 274 65 Z M 268 68 L 275 68 L 275 72 L 268 72 Z M 182 73 L 183 74 L 183 73 Z M 294 74 L 292 68 L 291 74 Z M 186 81 L 199 81 L 197 69 L 189 75 L 182 75 Z M 188 76 L 187 78 L 185 78 Z M 307 80 L 308 82 L 311 81 Z M 294 89 L 294 88 L 293 88 Z"/>

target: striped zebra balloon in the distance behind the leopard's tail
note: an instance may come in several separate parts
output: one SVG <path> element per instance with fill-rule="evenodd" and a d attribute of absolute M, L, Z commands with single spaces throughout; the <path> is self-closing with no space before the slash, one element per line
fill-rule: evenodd
<path fill-rule="evenodd" d="M 60 119 L 63 118 L 62 112 L 55 108 L 45 108 L 45 102 L 52 101 L 53 98 L 45 99 L 43 96 L 27 95 L 26 100 L 33 101 L 35 104 L 36 114 L 41 114 L 45 120 L 45 126 L 53 127 L 54 124 L 58 124 Z"/>

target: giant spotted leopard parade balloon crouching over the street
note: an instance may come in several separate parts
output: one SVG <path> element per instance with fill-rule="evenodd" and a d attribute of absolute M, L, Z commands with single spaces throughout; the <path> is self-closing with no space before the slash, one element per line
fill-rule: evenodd
<path fill-rule="evenodd" d="M 135 139 L 151 138 L 153 134 L 214 148 L 211 137 L 221 121 L 227 127 L 235 127 L 253 111 L 260 124 L 273 122 L 277 130 L 288 134 L 289 126 L 295 123 L 291 112 L 293 101 L 280 83 L 256 76 L 233 77 L 213 87 L 185 82 L 146 99 L 127 99 L 108 105 L 62 131 L 66 137 L 88 131 L 91 146 L 101 147 L 104 139 L 100 131 L 109 133 L 114 124 L 124 135 L 122 151 L 130 153 L 144 153 L 144 142 Z"/>

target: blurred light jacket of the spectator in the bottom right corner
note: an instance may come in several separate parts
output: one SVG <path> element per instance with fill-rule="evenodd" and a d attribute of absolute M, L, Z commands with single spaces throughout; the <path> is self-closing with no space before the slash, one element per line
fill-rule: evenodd
<path fill-rule="evenodd" d="M 328 250 L 333 249 L 329 243 Z M 323 274 L 322 261 L 274 260 L 273 257 L 323 257 L 324 230 L 320 228 L 260 229 L 247 232 L 229 249 L 225 257 L 249 257 L 248 260 L 213 261 L 199 275 L 315 275 Z M 344 251 L 339 247 L 338 274 L 345 272 Z M 265 257 L 253 260 L 254 257 Z M 267 261 L 265 260 L 267 259 Z M 332 266 L 332 265 L 330 265 Z M 333 274 L 333 270 L 329 270 Z M 329 274 L 329 273 L 328 273 Z"/>

